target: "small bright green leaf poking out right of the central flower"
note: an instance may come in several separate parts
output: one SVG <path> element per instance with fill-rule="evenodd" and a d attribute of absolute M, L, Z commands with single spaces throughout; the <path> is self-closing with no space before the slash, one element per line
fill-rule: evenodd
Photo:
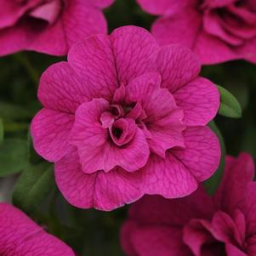
<path fill-rule="evenodd" d="M 220 94 L 219 115 L 232 118 L 242 117 L 242 108 L 235 96 L 221 86 L 218 88 Z"/>

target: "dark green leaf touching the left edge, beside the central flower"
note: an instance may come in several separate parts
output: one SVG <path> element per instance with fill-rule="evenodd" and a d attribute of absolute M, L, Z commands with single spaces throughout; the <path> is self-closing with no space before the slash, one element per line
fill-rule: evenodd
<path fill-rule="evenodd" d="M 0 145 L 0 177 L 19 173 L 28 165 L 25 139 L 4 139 Z"/>

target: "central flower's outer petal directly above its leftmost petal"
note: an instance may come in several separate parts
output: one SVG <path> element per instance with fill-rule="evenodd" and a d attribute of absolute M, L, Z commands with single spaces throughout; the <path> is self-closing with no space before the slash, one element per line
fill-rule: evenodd
<path fill-rule="evenodd" d="M 51 65 L 44 71 L 37 94 L 44 107 L 71 113 L 90 100 L 86 83 L 66 62 Z"/>

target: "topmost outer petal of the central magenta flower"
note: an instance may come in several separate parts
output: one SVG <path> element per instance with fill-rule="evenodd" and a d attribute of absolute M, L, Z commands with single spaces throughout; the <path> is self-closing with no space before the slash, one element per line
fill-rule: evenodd
<path fill-rule="evenodd" d="M 112 32 L 111 42 L 119 85 L 122 82 L 127 85 L 135 77 L 154 71 L 159 46 L 149 31 L 137 26 L 122 26 Z"/>

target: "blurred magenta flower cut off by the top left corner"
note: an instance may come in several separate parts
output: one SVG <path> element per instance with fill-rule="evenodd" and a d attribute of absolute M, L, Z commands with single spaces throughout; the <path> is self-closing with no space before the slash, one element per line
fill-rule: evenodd
<path fill-rule="evenodd" d="M 20 50 L 65 55 L 74 43 L 106 33 L 101 9 L 114 0 L 0 0 L 0 56 Z"/>

